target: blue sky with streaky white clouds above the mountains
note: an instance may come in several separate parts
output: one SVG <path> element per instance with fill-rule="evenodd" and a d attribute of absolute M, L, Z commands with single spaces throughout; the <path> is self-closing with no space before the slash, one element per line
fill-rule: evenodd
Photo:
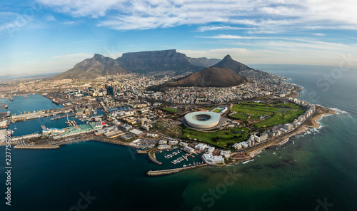
<path fill-rule="evenodd" d="M 241 63 L 357 63 L 354 0 L 28 0 L 0 3 L 0 76 L 100 53 L 176 49 Z"/>

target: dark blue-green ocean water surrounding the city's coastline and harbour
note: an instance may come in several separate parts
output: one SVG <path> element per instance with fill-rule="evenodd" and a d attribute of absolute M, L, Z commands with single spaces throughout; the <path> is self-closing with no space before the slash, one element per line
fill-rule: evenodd
<path fill-rule="evenodd" d="M 299 98 L 338 113 L 249 162 L 159 177 L 145 174 L 159 165 L 121 145 L 89 141 L 56 150 L 12 149 L 11 206 L 4 200 L 0 147 L 0 210 L 357 210 L 357 71 L 341 71 L 326 82 L 321 78 L 336 68 L 251 67 L 286 76 L 302 87 Z M 21 126 L 21 133 L 37 125 Z"/>

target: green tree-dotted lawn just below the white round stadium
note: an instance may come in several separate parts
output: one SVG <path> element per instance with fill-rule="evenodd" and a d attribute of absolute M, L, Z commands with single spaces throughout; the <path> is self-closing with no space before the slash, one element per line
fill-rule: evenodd
<path fill-rule="evenodd" d="M 241 131 L 244 130 L 245 133 L 232 133 L 232 130 Z M 229 149 L 228 145 L 233 145 L 234 143 L 239 143 L 241 141 L 247 140 L 248 135 L 251 132 L 248 128 L 230 128 L 226 130 L 219 130 L 216 132 L 201 132 L 198 130 L 192 130 L 186 126 L 182 127 L 182 137 L 191 140 L 195 138 L 201 140 L 204 143 L 214 145 L 219 148 Z"/>

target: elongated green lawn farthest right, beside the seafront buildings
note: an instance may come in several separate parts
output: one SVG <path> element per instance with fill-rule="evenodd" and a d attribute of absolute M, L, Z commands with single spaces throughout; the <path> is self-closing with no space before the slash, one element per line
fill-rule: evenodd
<path fill-rule="evenodd" d="M 291 123 L 294 119 L 298 118 L 299 115 L 303 114 L 305 110 L 284 110 L 282 112 L 274 113 L 271 118 L 262 120 L 261 122 L 255 123 L 257 128 L 269 128 L 273 125 Z"/>

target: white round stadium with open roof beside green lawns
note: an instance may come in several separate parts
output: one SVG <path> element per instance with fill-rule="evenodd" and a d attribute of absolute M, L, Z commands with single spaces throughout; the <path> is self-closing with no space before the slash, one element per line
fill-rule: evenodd
<path fill-rule="evenodd" d="M 216 127 L 221 120 L 221 115 L 215 112 L 200 111 L 186 114 L 185 120 L 193 128 L 207 129 Z"/>

